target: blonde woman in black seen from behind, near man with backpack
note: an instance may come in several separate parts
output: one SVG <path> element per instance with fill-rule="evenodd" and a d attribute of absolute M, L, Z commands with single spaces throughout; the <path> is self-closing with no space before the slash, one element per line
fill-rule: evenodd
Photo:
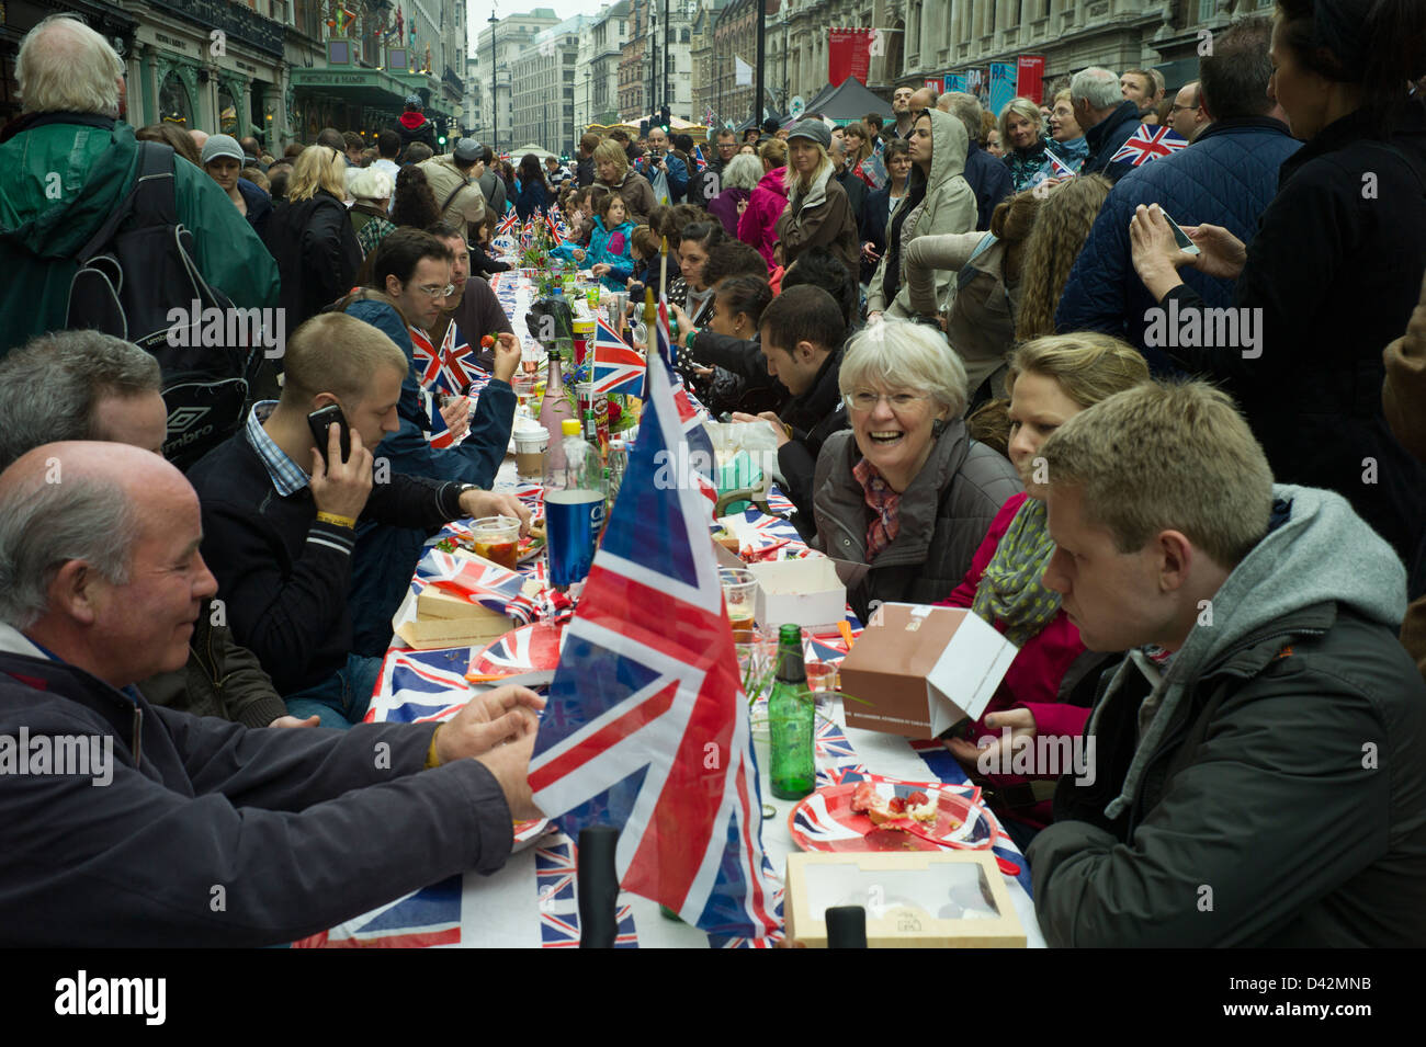
<path fill-rule="evenodd" d="M 341 150 L 302 150 L 287 182 L 287 199 L 272 208 L 262 238 L 282 278 L 288 335 L 351 291 L 356 279 L 362 252 L 345 197 L 347 160 Z"/>

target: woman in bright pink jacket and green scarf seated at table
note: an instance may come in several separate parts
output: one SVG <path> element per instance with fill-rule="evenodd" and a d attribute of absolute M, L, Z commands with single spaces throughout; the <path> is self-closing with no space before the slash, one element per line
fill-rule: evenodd
<path fill-rule="evenodd" d="M 1060 594 L 1042 581 L 1055 543 L 1045 528 L 1045 477 L 1037 456 L 1050 434 L 1081 410 L 1148 379 L 1138 350 L 1094 332 L 1037 338 L 1010 355 L 1010 460 L 1025 493 L 1001 506 L 965 578 L 941 601 L 971 608 L 1020 647 L 985 714 L 965 738 L 947 739 L 945 748 L 971 778 L 990 786 L 1001 821 L 1020 822 L 1017 829 L 1031 833 L 1050 823 L 1048 796 L 1038 796 L 1044 789 L 1024 776 L 980 773 L 983 746 L 998 745 L 1008 762 L 1012 752 L 1002 745 L 1004 728 L 1017 739 L 1037 734 L 1077 738 L 1089 718 L 1088 708 L 1065 704 L 1061 694 L 1085 647 Z"/>

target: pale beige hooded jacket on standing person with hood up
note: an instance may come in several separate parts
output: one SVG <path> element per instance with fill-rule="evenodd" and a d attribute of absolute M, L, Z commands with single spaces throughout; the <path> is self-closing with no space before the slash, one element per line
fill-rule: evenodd
<path fill-rule="evenodd" d="M 867 312 L 910 318 L 910 291 L 903 279 L 903 251 L 918 236 L 970 232 L 977 224 L 975 191 L 965 181 L 965 125 L 940 110 L 931 110 L 931 171 L 923 175 L 911 165 L 907 198 L 891 215 L 887 249 L 867 292 Z M 944 312 L 955 289 L 950 269 L 935 275 L 935 301 Z"/>

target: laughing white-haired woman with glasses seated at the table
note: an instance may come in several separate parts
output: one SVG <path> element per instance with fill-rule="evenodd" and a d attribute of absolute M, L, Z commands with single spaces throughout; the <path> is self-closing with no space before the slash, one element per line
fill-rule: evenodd
<path fill-rule="evenodd" d="M 940 600 L 1020 477 L 967 433 L 965 369 L 930 328 L 867 328 L 847 346 L 838 386 L 851 430 L 829 436 L 817 457 L 814 547 L 868 566 L 847 591 L 863 620 L 888 600 Z"/>

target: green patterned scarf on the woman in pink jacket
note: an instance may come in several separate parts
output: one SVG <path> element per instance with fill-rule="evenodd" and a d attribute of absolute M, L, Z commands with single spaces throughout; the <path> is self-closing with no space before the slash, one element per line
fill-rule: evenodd
<path fill-rule="evenodd" d="M 994 625 L 1005 623 L 1005 638 L 1015 647 L 1040 634 L 1060 611 L 1060 594 L 1045 588 L 1045 567 L 1055 543 L 1045 528 L 1045 503 L 1025 499 L 995 546 L 995 556 L 975 587 L 971 610 Z"/>

